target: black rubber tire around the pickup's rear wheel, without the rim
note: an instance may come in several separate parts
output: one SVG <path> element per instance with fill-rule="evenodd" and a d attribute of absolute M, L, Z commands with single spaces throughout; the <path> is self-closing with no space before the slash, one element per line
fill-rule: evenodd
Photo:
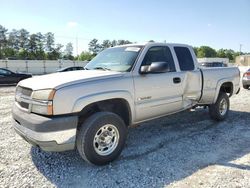
<path fill-rule="evenodd" d="M 220 110 L 219 110 L 220 101 L 223 98 L 226 99 L 227 101 L 227 112 L 225 115 L 221 115 Z M 229 97 L 226 93 L 221 92 L 217 98 L 216 103 L 209 106 L 209 115 L 213 120 L 223 121 L 228 115 L 229 108 L 230 108 Z"/>

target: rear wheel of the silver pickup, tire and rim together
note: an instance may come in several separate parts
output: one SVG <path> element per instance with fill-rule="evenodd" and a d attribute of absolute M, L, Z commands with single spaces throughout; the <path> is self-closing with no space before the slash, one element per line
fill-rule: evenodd
<path fill-rule="evenodd" d="M 209 106 L 209 115 L 213 120 L 223 121 L 229 111 L 230 102 L 226 93 L 220 93 L 215 104 Z"/>

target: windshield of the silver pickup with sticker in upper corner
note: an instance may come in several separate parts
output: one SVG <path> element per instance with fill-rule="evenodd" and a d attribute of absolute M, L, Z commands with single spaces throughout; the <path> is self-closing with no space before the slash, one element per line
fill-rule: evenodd
<path fill-rule="evenodd" d="M 142 46 L 109 48 L 99 53 L 86 66 L 87 70 L 130 71 Z"/>

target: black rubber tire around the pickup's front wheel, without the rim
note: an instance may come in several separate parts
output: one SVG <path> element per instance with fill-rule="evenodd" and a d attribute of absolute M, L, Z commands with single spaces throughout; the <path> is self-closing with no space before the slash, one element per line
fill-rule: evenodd
<path fill-rule="evenodd" d="M 116 126 L 120 138 L 116 149 L 110 155 L 101 156 L 95 152 L 93 139 L 98 129 L 105 124 Z M 105 165 L 115 160 L 120 155 L 125 145 L 126 137 L 127 126 L 117 114 L 111 112 L 97 112 L 81 125 L 76 136 L 76 147 L 80 156 L 88 163 Z"/>

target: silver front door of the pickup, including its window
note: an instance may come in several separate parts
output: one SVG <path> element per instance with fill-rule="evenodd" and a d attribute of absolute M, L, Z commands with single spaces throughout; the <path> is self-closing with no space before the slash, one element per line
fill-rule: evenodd
<path fill-rule="evenodd" d="M 182 78 L 176 72 L 169 47 L 154 46 L 147 51 L 141 66 L 167 62 L 169 72 L 134 76 L 136 122 L 179 111 L 182 108 Z"/>

